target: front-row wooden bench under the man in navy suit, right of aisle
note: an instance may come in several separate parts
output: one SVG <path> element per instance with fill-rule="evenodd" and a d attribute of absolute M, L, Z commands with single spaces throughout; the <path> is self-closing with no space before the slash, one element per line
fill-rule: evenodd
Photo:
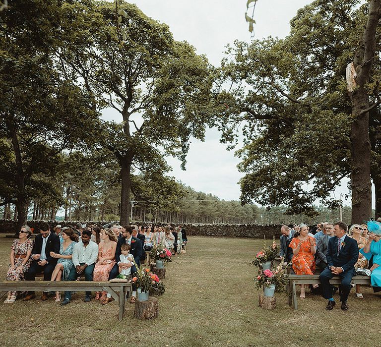
<path fill-rule="evenodd" d="M 289 280 L 289 285 L 287 286 L 288 292 L 288 304 L 292 306 L 294 301 L 294 310 L 298 309 L 298 297 L 296 295 L 296 285 L 320 285 L 319 275 L 286 275 Z M 334 276 L 329 280 L 331 285 L 341 284 L 341 279 L 338 276 Z M 352 284 L 354 285 L 371 285 L 371 278 L 368 276 L 354 276 L 352 278 Z"/>

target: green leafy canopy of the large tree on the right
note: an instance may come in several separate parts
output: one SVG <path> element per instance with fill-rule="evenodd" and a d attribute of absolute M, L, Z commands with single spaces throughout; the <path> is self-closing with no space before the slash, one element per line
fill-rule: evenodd
<path fill-rule="evenodd" d="M 314 1 L 298 11 L 284 40 L 228 46 L 216 72 L 213 107 L 229 148 L 242 128 L 244 146 L 236 154 L 242 159 L 239 170 L 246 173 L 240 181 L 243 203 L 285 204 L 288 213 L 311 217 L 317 216 L 316 200 L 331 209 L 338 206 L 330 192 L 356 170 L 345 67 L 366 19 L 366 8 L 358 4 Z M 375 66 L 372 81 L 379 75 L 379 58 Z M 377 110 L 370 118 L 373 148 L 380 146 L 380 120 Z"/>

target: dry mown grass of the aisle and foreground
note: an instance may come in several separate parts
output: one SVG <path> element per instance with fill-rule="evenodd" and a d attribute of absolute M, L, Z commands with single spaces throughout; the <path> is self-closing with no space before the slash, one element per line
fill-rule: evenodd
<path fill-rule="evenodd" d="M 256 268 L 248 263 L 261 240 L 190 237 L 187 254 L 167 265 L 160 316 L 152 321 L 118 321 L 115 301 L 84 303 L 83 293 L 60 307 L 54 299 L 0 302 L 0 346 L 381 346 L 380 295 L 352 289 L 350 309 L 326 311 L 323 298 L 307 293 L 294 312 L 286 294 L 276 294 L 273 311 L 258 307 Z M 0 277 L 8 266 L 12 239 L 0 236 Z M 40 293 L 38 293 L 40 294 Z M 338 297 L 336 297 L 338 300 Z"/>

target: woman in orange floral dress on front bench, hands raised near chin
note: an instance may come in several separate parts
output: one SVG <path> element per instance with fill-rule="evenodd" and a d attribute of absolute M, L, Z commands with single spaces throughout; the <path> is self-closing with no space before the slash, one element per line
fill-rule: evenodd
<path fill-rule="evenodd" d="M 296 275 L 314 275 L 316 240 L 308 234 L 308 226 L 300 225 L 299 234 L 291 240 L 290 246 L 294 253 L 292 257 L 292 268 Z M 314 288 L 318 287 L 315 285 Z M 304 285 L 301 285 L 300 297 L 305 298 Z"/>

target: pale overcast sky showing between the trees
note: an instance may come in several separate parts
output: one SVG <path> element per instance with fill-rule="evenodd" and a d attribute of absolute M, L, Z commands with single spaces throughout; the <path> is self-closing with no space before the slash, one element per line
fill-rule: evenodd
<path fill-rule="evenodd" d="M 134 2 L 151 18 L 169 25 L 175 40 L 188 41 L 197 54 L 205 54 L 209 61 L 218 66 L 224 48 L 234 40 L 251 41 L 248 23 L 245 21 L 245 0 L 135 0 Z M 267 36 L 283 38 L 288 35 L 290 20 L 299 8 L 311 0 L 258 0 L 254 19 L 254 38 Z M 121 121 L 111 110 L 104 112 L 106 119 Z M 234 151 L 227 151 L 219 142 L 216 129 L 208 129 L 205 141 L 193 139 L 187 157 L 186 171 L 180 162 L 168 158 L 173 171 L 170 173 L 197 191 L 212 193 L 221 199 L 239 200 L 238 181 L 243 176 L 238 172 L 239 158 Z M 334 196 L 348 193 L 346 184 L 338 188 Z M 349 202 L 344 202 L 349 204 Z"/>

